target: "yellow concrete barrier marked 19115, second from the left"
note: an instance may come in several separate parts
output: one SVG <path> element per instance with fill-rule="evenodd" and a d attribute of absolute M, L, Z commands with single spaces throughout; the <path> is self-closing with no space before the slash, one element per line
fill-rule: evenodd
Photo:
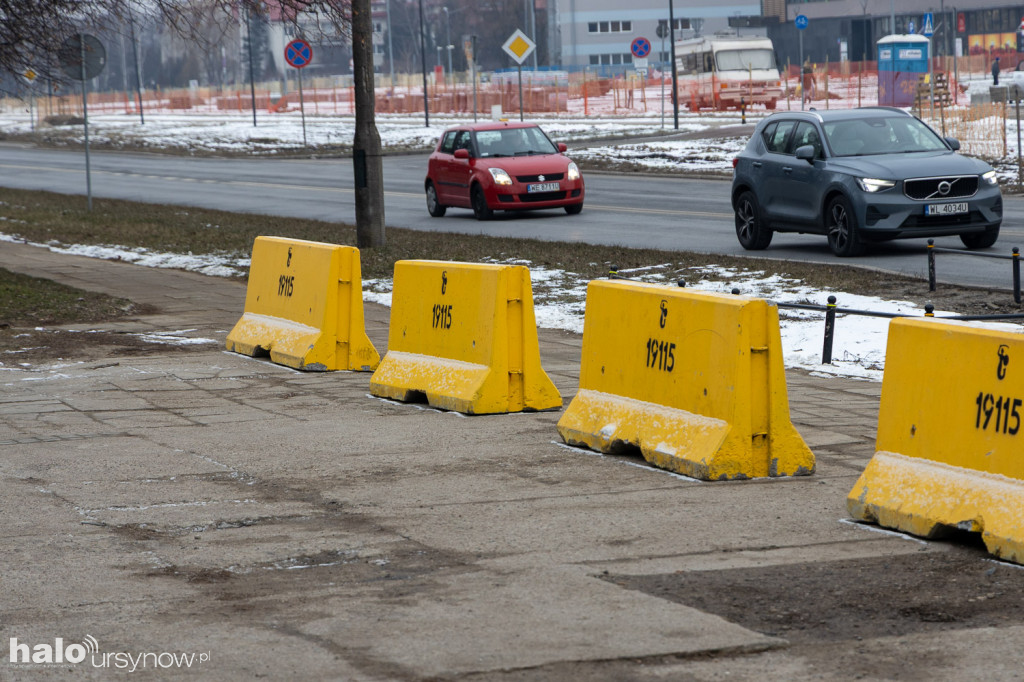
<path fill-rule="evenodd" d="M 541 368 L 529 270 L 395 263 L 388 351 L 370 392 L 476 415 L 560 407 Z"/>

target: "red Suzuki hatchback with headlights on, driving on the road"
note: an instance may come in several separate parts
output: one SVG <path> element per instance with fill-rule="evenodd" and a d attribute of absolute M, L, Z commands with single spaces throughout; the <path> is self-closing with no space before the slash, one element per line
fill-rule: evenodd
<path fill-rule="evenodd" d="M 530 123 L 472 123 L 444 131 L 430 155 L 424 189 L 435 218 L 451 207 L 473 209 L 477 220 L 495 211 L 583 210 L 583 175 Z"/>

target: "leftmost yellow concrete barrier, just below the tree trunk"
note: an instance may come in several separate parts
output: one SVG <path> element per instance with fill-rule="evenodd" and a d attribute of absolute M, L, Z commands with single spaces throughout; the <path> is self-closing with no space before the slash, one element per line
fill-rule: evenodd
<path fill-rule="evenodd" d="M 359 250 L 280 237 L 253 244 L 246 308 L 227 349 L 297 370 L 372 371 L 380 355 L 362 317 Z"/>

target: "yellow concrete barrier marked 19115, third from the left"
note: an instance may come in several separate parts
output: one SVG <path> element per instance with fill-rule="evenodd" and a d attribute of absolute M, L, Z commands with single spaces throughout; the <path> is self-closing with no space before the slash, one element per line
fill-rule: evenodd
<path fill-rule="evenodd" d="M 738 296 L 591 282 L 580 391 L 558 431 L 703 480 L 814 471 L 790 422 L 778 309 Z"/>

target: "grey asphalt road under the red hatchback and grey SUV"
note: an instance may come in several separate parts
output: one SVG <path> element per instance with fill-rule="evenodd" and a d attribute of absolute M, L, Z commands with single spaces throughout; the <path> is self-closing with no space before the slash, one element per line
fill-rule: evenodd
<path fill-rule="evenodd" d="M 352 168 L 347 159 L 191 159 L 150 154 L 90 155 L 93 197 L 201 206 L 283 217 L 354 222 Z M 385 214 L 389 226 L 471 235 L 685 250 L 821 263 L 857 264 L 927 275 L 923 240 L 876 245 L 864 257 L 836 258 L 818 236 L 776 235 L 769 249 L 743 251 L 733 231 L 729 185 L 723 180 L 590 173 L 580 216 L 562 211 L 503 215 L 478 222 L 468 210 L 431 218 L 423 198 L 426 155 L 384 160 Z M 85 194 L 82 152 L 0 145 L 0 186 Z M 938 246 L 962 249 L 956 238 Z M 1024 200 L 1006 198 L 1002 233 L 985 251 L 1008 255 L 1024 246 Z M 1007 260 L 940 255 L 941 282 L 1010 289 Z"/>

